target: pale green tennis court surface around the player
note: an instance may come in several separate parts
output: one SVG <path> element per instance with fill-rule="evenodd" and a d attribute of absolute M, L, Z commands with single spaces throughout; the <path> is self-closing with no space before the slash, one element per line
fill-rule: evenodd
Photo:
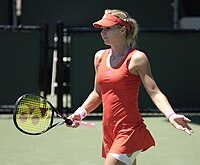
<path fill-rule="evenodd" d="M 139 165 L 199 165 L 199 117 L 191 117 L 194 134 L 176 130 L 163 117 L 144 117 L 156 147 L 139 154 Z M 93 121 L 92 121 L 93 122 Z M 101 121 L 96 128 L 60 126 L 39 136 L 19 132 L 11 119 L 0 119 L 2 165 L 102 165 Z"/>

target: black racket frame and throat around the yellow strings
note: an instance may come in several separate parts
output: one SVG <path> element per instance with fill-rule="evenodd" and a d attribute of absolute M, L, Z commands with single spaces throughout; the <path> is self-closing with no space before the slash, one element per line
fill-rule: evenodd
<path fill-rule="evenodd" d="M 27 97 L 27 96 L 38 96 L 38 97 L 44 99 L 44 100 L 51 106 L 51 108 L 52 108 L 52 110 L 53 110 L 53 115 L 52 115 L 52 117 L 51 117 L 50 126 L 49 126 L 46 130 L 44 130 L 44 131 L 42 131 L 42 132 L 38 132 L 38 133 L 26 132 L 26 131 L 24 131 L 23 129 L 21 129 L 21 128 L 18 126 L 18 124 L 17 124 L 17 120 L 16 120 L 16 116 L 17 116 L 17 107 L 18 107 L 20 101 L 21 101 L 24 97 Z M 64 121 L 61 121 L 61 122 L 58 122 L 58 123 L 53 124 L 54 112 L 56 112 L 56 114 L 57 114 L 60 118 L 62 118 Z M 43 133 L 47 132 L 48 130 L 52 129 L 52 128 L 55 127 L 55 126 L 59 126 L 59 125 L 62 125 L 62 124 L 64 124 L 64 123 L 66 123 L 67 125 L 72 125 L 72 124 L 73 124 L 72 120 L 70 120 L 70 119 L 64 117 L 63 115 L 61 115 L 61 114 L 57 111 L 57 109 L 51 104 L 51 102 L 49 102 L 45 97 L 40 96 L 40 95 L 37 95 L 37 94 L 32 94 L 32 93 L 28 93 L 28 94 L 24 94 L 24 95 L 20 96 L 20 97 L 17 99 L 17 101 L 15 102 L 15 106 L 14 106 L 14 109 L 13 109 L 13 122 L 14 122 L 15 127 L 16 127 L 19 131 L 21 131 L 21 132 L 23 132 L 23 133 L 25 133 L 25 134 L 28 134 L 28 135 L 40 135 L 40 134 L 43 134 Z M 52 125 L 52 124 L 53 124 L 53 125 Z"/>

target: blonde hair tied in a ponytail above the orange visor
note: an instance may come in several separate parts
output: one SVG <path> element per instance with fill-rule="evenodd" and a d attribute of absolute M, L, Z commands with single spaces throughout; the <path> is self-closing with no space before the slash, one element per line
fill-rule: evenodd
<path fill-rule="evenodd" d="M 136 45 L 136 39 L 138 34 L 138 24 L 136 20 L 132 18 L 127 12 L 119 9 L 106 9 L 105 14 L 112 14 L 129 24 L 130 30 L 126 30 L 126 38 L 129 43 L 129 46 L 134 47 Z"/>

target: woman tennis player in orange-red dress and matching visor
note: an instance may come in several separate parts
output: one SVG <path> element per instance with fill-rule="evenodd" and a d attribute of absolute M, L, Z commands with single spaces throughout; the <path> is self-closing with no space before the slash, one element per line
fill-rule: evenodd
<path fill-rule="evenodd" d="M 125 11 L 105 10 L 101 20 L 101 37 L 110 48 L 95 54 L 94 89 L 71 116 L 82 120 L 103 104 L 102 156 L 104 165 L 136 165 L 136 157 L 155 145 L 138 110 L 140 84 L 144 85 L 157 108 L 177 129 L 191 134 L 187 117 L 176 114 L 158 88 L 145 53 L 134 49 L 138 25 Z M 75 123 L 72 127 L 76 128 Z"/>

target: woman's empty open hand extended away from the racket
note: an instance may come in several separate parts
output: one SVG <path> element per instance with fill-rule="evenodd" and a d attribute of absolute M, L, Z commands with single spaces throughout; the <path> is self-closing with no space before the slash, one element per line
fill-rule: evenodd
<path fill-rule="evenodd" d="M 173 114 L 172 116 L 170 116 L 169 121 L 175 128 L 185 131 L 189 135 L 194 133 L 192 128 L 187 124 L 191 122 L 191 120 L 184 115 Z"/>

